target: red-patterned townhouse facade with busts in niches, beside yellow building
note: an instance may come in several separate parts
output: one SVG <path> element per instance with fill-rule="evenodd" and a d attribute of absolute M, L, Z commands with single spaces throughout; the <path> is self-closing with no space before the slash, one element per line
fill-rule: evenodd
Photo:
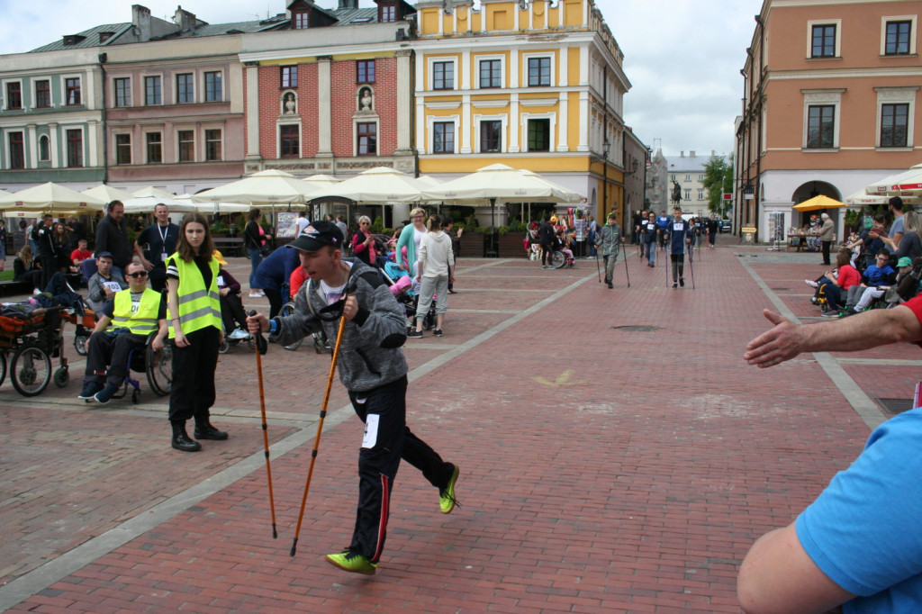
<path fill-rule="evenodd" d="M 246 172 L 416 172 L 410 144 L 415 9 L 399 0 L 335 10 L 295 0 L 290 30 L 243 37 Z"/>

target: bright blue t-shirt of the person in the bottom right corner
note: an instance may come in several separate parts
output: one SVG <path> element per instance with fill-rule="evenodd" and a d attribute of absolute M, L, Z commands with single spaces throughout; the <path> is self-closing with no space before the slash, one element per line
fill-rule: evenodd
<path fill-rule="evenodd" d="M 922 408 L 881 424 L 798 516 L 810 559 L 858 595 L 845 614 L 922 611 Z"/>

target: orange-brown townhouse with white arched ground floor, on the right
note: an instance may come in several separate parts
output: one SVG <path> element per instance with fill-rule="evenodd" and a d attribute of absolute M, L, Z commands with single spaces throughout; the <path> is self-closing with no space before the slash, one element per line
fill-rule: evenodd
<path fill-rule="evenodd" d="M 920 13 L 918 0 L 765 0 L 741 71 L 735 228 L 783 239 L 804 221 L 792 206 L 919 163 Z"/>

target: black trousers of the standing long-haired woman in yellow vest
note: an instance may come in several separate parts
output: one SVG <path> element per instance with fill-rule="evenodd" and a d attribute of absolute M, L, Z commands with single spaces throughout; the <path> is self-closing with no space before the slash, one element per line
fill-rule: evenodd
<path fill-rule="evenodd" d="M 170 390 L 170 421 L 195 424 L 208 420 L 215 404 L 215 368 L 218 366 L 220 331 L 214 326 L 199 328 L 185 336 L 187 348 L 173 346 L 173 380 Z"/>

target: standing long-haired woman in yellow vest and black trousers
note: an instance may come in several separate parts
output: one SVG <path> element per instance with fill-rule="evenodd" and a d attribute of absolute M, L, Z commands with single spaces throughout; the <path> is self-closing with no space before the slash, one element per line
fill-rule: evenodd
<path fill-rule="evenodd" d="M 174 346 L 170 444 L 183 452 L 202 449 L 185 431 L 190 418 L 195 419 L 195 439 L 228 438 L 209 419 L 209 410 L 215 404 L 218 347 L 224 337 L 214 251 L 205 217 L 187 214 L 180 227 L 176 253 L 167 258 L 167 318 Z"/>

